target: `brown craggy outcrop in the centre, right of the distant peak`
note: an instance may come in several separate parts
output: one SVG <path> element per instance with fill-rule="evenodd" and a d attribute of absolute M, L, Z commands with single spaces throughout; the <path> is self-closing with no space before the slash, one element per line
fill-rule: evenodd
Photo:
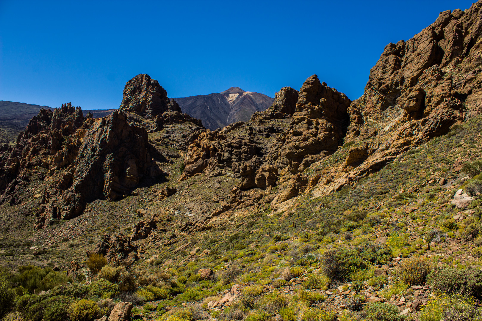
<path fill-rule="evenodd" d="M 299 94 L 283 88 L 276 94 L 274 107 L 254 114 L 250 122 L 201 133 L 188 148 L 182 179 L 201 172 L 215 175 L 228 167 L 240 177 L 231 203 L 242 206 L 242 198 L 255 204 L 266 196 L 256 192 L 244 195 L 243 191 L 261 189 L 269 193 L 282 176 L 282 195 L 275 202 L 290 199 L 308 182 L 300 173 L 343 143 L 350 103 L 345 94 L 321 84 L 316 75 L 307 79 Z M 269 123 L 272 119 L 282 120 L 285 126 L 274 127 Z"/>

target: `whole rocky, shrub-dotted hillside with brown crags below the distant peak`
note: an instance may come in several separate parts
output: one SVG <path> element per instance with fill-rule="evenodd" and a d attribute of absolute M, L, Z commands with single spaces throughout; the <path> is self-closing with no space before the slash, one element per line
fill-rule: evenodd
<path fill-rule="evenodd" d="M 481 10 L 355 101 L 312 75 L 212 131 L 140 74 L 109 116 L 40 110 L 0 148 L 11 317 L 481 320 Z"/>

